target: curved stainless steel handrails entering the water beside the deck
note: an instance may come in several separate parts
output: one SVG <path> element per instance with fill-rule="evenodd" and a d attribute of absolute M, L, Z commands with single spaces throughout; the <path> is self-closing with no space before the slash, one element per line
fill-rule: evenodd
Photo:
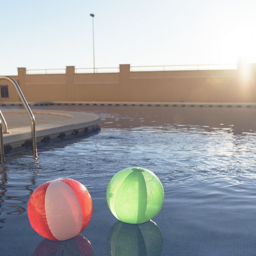
<path fill-rule="evenodd" d="M 30 121 L 31 121 L 33 156 L 36 158 L 37 157 L 37 149 L 36 149 L 35 116 L 33 115 L 31 109 L 29 108 L 28 102 L 25 99 L 23 93 L 21 92 L 19 84 L 17 84 L 17 82 L 12 77 L 10 77 L 10 76 L 0 76 L 0 80 L 7 80 L 7 81 L 9 81 L 9 82 L 11 82 L 13 84 L 14 88 L 18 92 L 18 95 L 20 97 L 20 100 L 22 101 L 23 106 L 27 110 L 27 113 L 28 113 L 28 115 L 30 117 Z M 0 111 L 0 116 L 1 116 L 0 119 L 4 120 L 4 116 L 3 116 L 1 111 Z M 7 126 L 6 126 L 6 129 L 7 129 Z M 1 148 L 3 147 L 3 156 L 4 156 L 4 142 L 3 142 L 3 138 L 1 138 L 1 132 L 3 133 L 2 122 L 1 122 L 1 128 L 0 128 L 0 155 L 1 155 L 1 159 L 2 159 Z M 3 137 L 3 135 L 2 135 L 2 137 Z"/>

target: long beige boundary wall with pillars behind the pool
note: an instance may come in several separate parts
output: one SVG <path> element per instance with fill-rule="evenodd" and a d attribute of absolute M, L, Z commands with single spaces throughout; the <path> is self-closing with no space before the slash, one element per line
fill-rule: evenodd
<path fill-rule="evenodd" d="M 71 66 L 66 74 L 26 75 L 26 68 L 18 68 L 12 78 L 27 101 L 256 102 L 256 65 L 248 65 L 246 72 L 241 65 L 235 70 L 130 72 L 128 64 L 120 65 L 119 73 L 98 74 L 76 74 Z M 8 81 L 0 84 L 9 85 L 9 98 L 1 102 L 19 101 Z"/>

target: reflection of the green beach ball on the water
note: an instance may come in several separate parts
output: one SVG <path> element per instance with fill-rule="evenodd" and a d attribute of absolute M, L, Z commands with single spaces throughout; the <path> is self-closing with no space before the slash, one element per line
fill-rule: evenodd
<path fill-rule="evenodd" d="M 156 223 L 142 224 L 117 221 L 108 234 L 108 252 L 111 256 L 159 256 L 163 249 L 163 236 Z"/>

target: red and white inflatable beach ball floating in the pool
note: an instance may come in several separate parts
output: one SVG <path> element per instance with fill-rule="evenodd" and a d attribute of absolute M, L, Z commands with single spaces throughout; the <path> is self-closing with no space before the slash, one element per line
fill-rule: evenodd
<path fill-rule="evenodd" d="M 80 234 L 92 217 L 92 198 L 72 179 L 50 180 L 38 186 L 28 201 L 32 228 L 45 238 L 67 240 Z"/>

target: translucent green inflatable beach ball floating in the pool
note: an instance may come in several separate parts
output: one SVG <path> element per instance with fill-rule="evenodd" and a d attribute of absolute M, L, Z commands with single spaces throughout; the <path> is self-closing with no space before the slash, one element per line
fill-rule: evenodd
<path fill-rule="evenodd" d="M 117 172 L 108 183 L 110 211 L 126 223 L 140 224 L 155 217 L 164 201 L 164 189 L 156 175 L 141 167 Z"/>

